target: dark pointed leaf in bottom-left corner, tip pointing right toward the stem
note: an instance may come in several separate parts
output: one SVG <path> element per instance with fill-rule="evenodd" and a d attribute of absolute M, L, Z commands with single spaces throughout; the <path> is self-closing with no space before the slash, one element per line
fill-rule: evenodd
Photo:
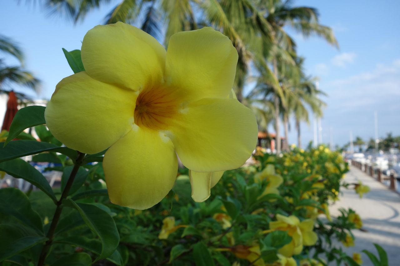
<path fill-rule="evenodd" d="M 0 224 L 0 239 L 0 262 L 47 240 L 16 224 Z"/>

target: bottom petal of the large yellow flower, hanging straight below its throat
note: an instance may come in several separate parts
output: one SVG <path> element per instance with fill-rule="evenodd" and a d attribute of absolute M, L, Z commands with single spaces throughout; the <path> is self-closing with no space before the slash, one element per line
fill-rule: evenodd
<path fill-rule="evenodd" d="M 103 168 L 111 202 L 144 210 L 160 202 L 172 189 L 178 159 L 170 139 L 134 126 L 108 149 Z"/>

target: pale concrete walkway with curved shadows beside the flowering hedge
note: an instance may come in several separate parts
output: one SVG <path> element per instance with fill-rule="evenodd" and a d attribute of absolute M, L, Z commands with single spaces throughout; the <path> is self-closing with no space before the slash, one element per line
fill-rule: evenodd
<path fill-rule="evenodd" d="M 340 200 L 330 207 L 333 216 L 340 214 L 339 208 L 352 208 L 360 215 L 362 228 L 368 231 L 353 230 L 355 246 L 344 250 L 352 256 L 353 252 L 366 249 L 378 257 L 372 244 L 377 243 L 388 253 L 390 266 L 400 265 L 400 195 L 356 167 L 350 166 L 350 172 L 344 180 L 347 183 L 361 181 L 371 189 L 362 199 L 353 189 L 342 189 Z M 364 253 L 362 260 L 363 265 L 373 265 Z"/>

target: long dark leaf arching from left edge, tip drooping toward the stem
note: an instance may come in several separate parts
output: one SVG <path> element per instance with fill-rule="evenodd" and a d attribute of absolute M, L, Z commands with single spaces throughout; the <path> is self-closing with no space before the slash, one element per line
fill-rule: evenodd
<path fill-rule="evenodd" d="M 57 202 L 56 196 L 46 178 L 26 161 L 17 158 L 2 162 L 0 163 L 0 170 L 15 178 L 22 178 L 28 181 L 46 193 L 54 202 Z"/>

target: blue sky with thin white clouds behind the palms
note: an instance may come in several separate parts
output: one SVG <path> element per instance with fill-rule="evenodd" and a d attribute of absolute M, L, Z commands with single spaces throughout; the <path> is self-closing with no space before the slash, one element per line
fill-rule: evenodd
<path fill-rule="evenodd" d="M 58 16 L 47 16 L 37 4 L 0 3 L 0 34 L 20 44 L 26 68 L 43 81 L 42 91 L 34 97 L 49 99 L 58 81 L 72 74 L 61 48 L 80 49 L 86 32 L 101 24 L 117 2 L 91 12 L 75 26 Z M 329 95 L 322 119 L 323 141 L 329 142 L 330 128 L 335 144 L 348 142 L 350 131 L 364 139 L 373 137 L 374 111 L 378 112 L 380 136 L 387 132 L 400 135 L 400 1 L 298 0 L 294 4 L 317 8 L 320 22 L 334 29 L 340 46 L 337 50 L 319 38 L 303 39 L 291 32 L 298 54 L 306 58 L 306 71 L 320 77 L 320 89 Z M 9 59 L 8 63 L 16 61 Z M 295 143 L 292 125 L 289 142 Z M 312 129 L 312 123 L 302 125 L 303 145 L 312 140 Z"/>

